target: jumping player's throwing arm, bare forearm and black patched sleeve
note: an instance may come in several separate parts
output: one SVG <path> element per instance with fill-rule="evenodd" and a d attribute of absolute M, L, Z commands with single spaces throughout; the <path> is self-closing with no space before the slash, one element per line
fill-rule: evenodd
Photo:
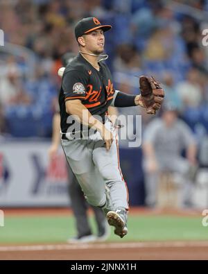
<path fill-rule="evenodd" d="M 87 77 L 85 74 L 81 71 L 67 72 L 67 74 L 64 74 L 62 87 L 65 96 L 66 112 L 75 118 L 78 117 L 83 125 L 98 130 L 105 141 L 107 151 L 110 150 L 113 142 L 112 132 L 107 130 L 101 121 L 93 117 L 82 103 L 87 90 Z"/>

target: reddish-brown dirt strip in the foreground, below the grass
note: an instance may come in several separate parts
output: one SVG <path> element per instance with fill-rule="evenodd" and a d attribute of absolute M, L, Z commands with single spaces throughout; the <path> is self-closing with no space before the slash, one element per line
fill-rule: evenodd
<path fill-rule="evenodd" d="M 0 246 L 0 260 L 208 259 L 208 241 Z"/>

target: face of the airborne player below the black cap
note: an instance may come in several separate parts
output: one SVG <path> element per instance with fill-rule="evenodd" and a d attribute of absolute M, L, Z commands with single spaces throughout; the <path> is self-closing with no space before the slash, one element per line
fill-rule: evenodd
<path fill-rule="evenodd" d="M 104 51 L 105 36 L 103 30 L 98 29 L 85 35 L 85 49 L 94 54 L 100 54 Z"/>

